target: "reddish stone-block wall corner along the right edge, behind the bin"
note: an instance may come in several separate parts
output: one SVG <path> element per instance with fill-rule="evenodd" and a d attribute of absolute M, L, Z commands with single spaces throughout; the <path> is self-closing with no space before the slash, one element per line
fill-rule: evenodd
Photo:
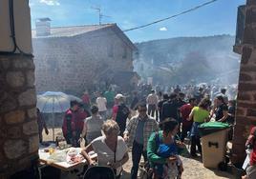
<path fill-rule="evenodd" d="M 233 164 L 244 162 L 245 140 L 251 124 L 256 124 L 256 0 L 246 2 L 242 48 L 231 158 Z"/>

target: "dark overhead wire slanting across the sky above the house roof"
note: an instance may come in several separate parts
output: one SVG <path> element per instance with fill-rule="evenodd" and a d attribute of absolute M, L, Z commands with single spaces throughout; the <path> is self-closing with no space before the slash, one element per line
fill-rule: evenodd
<path fill-rule="evenodd" d="M 170 16 L 170 17 L 166 17 L 166 18 L 163 18 L 163 19 L 154 21 L 154 22 L 149 23 L 149 24 L 145 24 L 145 25 L 142 25 L 142 26 L 139 26 L 139 27 L 136 27 L 136 28 L 131 28 L 131 29 L 122 30 L 122 31 L 126 32 L 126 31 L 139 30 L 139 29 L 141 29 L 141 28 L 146 28 L 146 27 L 148 27 L 148 26 L 151 26 L 151 25 L 154 25 L 154 24 L 158 24 L 158 23 L 160 23 L 160 22 L 162 22 L 162 21 L 166 21 L 166 20 L 168 20 L 168 19 L 171 19 L 171 18 L 180 16 L 180 15 L 185 14 L 185 13 L 188 13 L 188 12 L 190 12 L 190 11 L 198 10 L 198 9 L 203 8 L 204 6 L 207 6 L 207 5 L 209 5 L 209 4 L 212 4 L 212 3 L 216 2 L 216 1 L 218 1 L 218 0 L 211 0 L 211 1 L 208 1 L 208 2 L 203 3 L 202 5 L 196 6 L 196 7 L 192 8 L 192 9 L 181 11 L 180 13 L 177 13 L 177 14 L 172 15 L 172 16 Z"/>

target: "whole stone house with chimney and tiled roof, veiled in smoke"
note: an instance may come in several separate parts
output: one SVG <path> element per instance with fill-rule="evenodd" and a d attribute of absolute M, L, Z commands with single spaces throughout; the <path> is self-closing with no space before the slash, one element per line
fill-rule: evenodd
<path fill-rule="evenodd" d="M 49 21 L 40 19 L 40 26 L 32 30 L 37 92 L 56 90 L 78 95 L 100 84 L 117 84 L 115 76 L 120 73 L 136 76 L 133 51 L 137 49 L 116 24 L 49 30 Z M 42 22 L 47 26 L 42 27 Z M 129 80 L 118 85 L 124 89 L 127 83 Z"/>

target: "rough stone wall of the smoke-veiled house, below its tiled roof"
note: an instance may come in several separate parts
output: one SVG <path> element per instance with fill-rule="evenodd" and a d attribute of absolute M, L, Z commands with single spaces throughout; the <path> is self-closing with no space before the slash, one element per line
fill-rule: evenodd
<path fill-rule="evenodd" d="M 107 70 L 133 70 L 132 50 L 112 30 L 32 39 L 38 92 L 81 94 Z"/>

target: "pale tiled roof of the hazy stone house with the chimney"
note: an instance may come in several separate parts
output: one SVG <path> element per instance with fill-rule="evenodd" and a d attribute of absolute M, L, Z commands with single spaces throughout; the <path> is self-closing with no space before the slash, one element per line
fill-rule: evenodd
<path fill-rule="evenodd" d="M 100 30 L 113 26 L 115 26 L 115 24 L 51 28 L 51 35 L 47 36 L 36 36 L 35 30 L 32 30 L 32 38 L 71 37 L 82 33 L 87 33 L 89 31 Z"/>

